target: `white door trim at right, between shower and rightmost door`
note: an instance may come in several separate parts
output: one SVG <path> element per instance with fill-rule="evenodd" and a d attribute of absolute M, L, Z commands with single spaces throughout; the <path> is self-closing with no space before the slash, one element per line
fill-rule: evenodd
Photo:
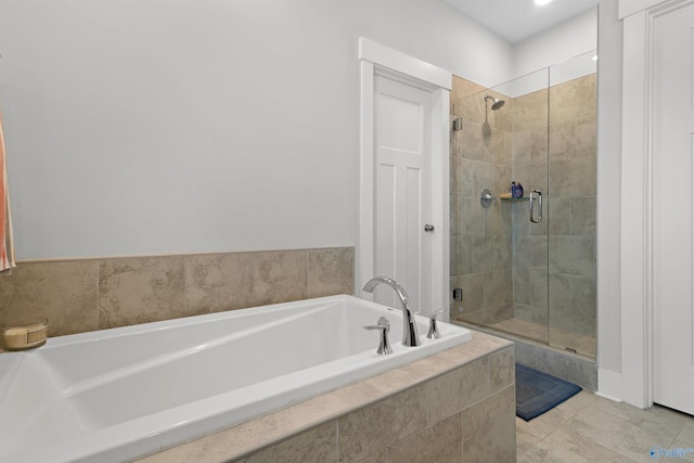
<path fill-rule="evenodd" d="M 621 1 L 620 8 L 627 2 Z M 655 301 L 653 274 L 653 146 L 654 29 L 655 21 L 694 0 L 644 2 L 641 11 L 624 17 L 624 88 L 621 178 L 641 179 L 641 194 L 621 183 L 621 374 L 620 384 L 601 385 L 628 403 L 654 403 Z M 628 78 L 627 78 L 628 76 Z M 641 288 L 641 291 L 634 291 Z M 605 335 L 605 334 L 603 334 Z"/>

